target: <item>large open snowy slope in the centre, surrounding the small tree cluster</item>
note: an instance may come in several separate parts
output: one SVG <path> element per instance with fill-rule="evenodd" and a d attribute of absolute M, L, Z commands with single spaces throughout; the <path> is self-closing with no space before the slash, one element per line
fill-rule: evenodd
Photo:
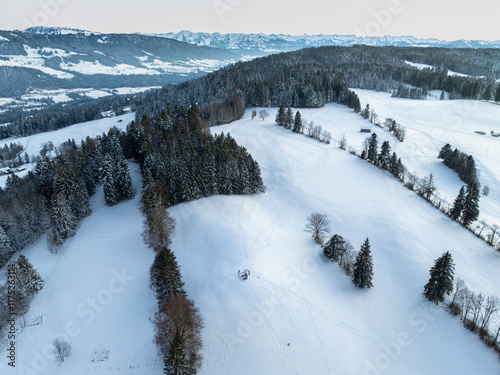
<path fill-rule="evenodd" d="M 497 355 L 432 309 L 422 290 L 434 260 L 449 250 L 469 287 L 500 295 L 498 253 L 387 173 L 279 128 L 275 113 L 252 121 L 247 111 L 213 129 L 230 132 L 260 163 L 266 193 L 171 209 L 172 248 L 205 318 L 200 374 L 496 373 Z M 303 118 L 314 115 L 332 132 L 359 132 L 362 122 L 338 105 Z M 373 289 L 354 289 L 322 259 L 303 231 L 314 211 L 328 214 L 332 234 L 356 249 L 370 238 Z M 237 277 L 243 268 L 251 271 L 246 281 Z"/>

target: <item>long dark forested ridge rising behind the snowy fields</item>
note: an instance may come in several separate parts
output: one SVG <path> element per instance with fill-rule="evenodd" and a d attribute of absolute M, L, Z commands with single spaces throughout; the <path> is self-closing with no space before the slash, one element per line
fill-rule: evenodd
<path fill-rule="evenodd" d="M 410 64 L 411 63 L 411 64 Z M 420 66 L 414 66 L 424 64 Z M 197 103 L 208 125 L 241 118 L 245 108 L 280 105 L 314 108 L 337 102 L 359 110 L 349 88 L 391 91 L 395 96 L 425 99 L 430 90 L 449 93 L 450 99 L 500 101 L 500 50 L 401 47 L 320 47 L 281 53 L 238 62 L 204 77 L 159 90 L 110 100 L 108 108 L 119 111 L 130 105 L 140 120 L 158 116 L 167 106 Z M 85 119 L 98 118 L 102 106 L 81 105 Z M 11 125 L 0 136 L 27 135 L 74 122 L 59 112 L 68 107 L 0 115 Z"/>

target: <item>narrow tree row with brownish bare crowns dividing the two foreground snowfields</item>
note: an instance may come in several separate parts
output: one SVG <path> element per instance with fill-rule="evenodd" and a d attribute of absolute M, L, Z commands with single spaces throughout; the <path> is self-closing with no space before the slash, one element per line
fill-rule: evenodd
<path fill-rule="evenodd" d="M 170 250 L 175 220 L 167 210 L 167 187 L 145 180 L 141 202 L 145 216 L 143 237 L 156 252 L 150 268 L 150 287 L 158 303 L 153 323 L 155 342 L 163 356 L 163 373 L 196 374 L 202 360 L 203 319 L 187 297 L 179 264 Z"/>

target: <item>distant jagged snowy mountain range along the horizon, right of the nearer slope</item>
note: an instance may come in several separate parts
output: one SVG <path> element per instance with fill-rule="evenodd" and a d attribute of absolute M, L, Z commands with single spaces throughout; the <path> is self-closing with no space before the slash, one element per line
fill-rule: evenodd
<path fill-rule="evenodd" d="M 179 33 L 148 34 L 178 40 L 197 46 L 215 47 L 238 52 L 263 53 L 292 51 L 320 46 L 398 46 L 398 47 L 444 47 L 444 48 L 500 48 L 500 41 L 419 39 L 413 36 L 359 37 L 355 35 L 285 35 L 285 34 L 219 34 L 194 33 L 183 30 Z"/>

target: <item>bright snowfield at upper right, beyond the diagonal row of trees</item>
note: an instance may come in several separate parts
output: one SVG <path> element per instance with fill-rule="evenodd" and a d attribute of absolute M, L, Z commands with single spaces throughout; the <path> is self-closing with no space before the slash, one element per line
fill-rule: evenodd
<path fill-rule="evenodd" d="M 437 158 L 439 150 L 450 143 L 453 148 L 472 155 L 481 185 L 491 189 L 488 197 L 481 197 L 480 220 L 500 225 L 500 139 L 490 135 L 491 131 L 500 133 L 500 106 L 473 100 L 410 100 L 391 98 L 382 92 L 355 91 L 362 106 L 369 103 L 379 115 L 379 121 L 391 117 L 407 129 L 404 143 L 397 142 L 382 129 L 377 134 L 381 136 L 380 142 L 391 142 L 411 172 L 415 171 L 420 177 L 433 173 L 439 194 L 449 203 L 453 203 L 464 183 Z M 349 141 L 350 136 L 347 138 Z M 352 145 L 361 147 L 359 139 Z"/>

